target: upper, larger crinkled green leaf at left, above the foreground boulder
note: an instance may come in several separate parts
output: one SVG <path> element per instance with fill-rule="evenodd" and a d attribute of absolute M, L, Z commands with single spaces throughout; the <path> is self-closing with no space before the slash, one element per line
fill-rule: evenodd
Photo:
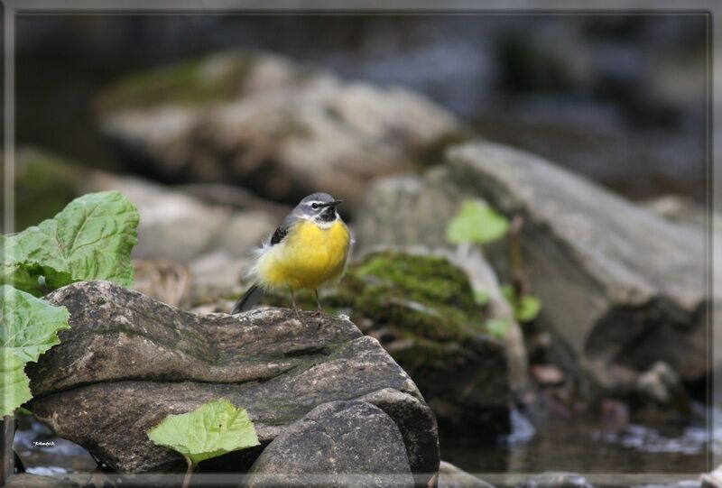
<path fill-rule="evenodd" d="M 0 278 L 35 296 L 83 280 L 130 286 L 139 219 L 134 204 L 117 191 L 76 198 L 57 216 L 0 241 Z"/>

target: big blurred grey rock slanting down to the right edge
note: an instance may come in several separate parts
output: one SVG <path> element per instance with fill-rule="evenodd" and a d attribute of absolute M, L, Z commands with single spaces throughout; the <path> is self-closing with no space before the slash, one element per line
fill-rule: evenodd
<path fill-rule="evenodd" d="M 597 381 L 610 366 L 634 376 L 662 362 L 684 381 L 707 373 L 710 302 L 700 230 L 502 145 L 463 144 L 448 159 L 459 191 L 523 216 L 524 265 L 542 299 L 540 322 L 592 384 L 614 392 L 614 383 Z M 489 251 L 508 279 L 508 244 Z"/>

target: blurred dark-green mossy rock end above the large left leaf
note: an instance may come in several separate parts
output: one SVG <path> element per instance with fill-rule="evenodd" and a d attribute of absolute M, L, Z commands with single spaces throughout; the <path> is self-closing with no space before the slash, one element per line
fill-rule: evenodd
<path fill-rule="evenodd" d="M 15 169 L 15 230 L 36 226 L 80 196 L 85 170 L 49 152 L 24 149 Z"/>

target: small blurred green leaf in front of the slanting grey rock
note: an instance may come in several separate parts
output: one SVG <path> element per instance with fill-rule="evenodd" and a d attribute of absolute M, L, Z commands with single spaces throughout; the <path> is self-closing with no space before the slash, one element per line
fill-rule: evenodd
<path fill-rule="evenodd" d="M 446 238 L 451 244 L 487 244 L 504 237 L 508 230 L 509 220 L 486 202 L 466 200 L 449 222 Z"/>

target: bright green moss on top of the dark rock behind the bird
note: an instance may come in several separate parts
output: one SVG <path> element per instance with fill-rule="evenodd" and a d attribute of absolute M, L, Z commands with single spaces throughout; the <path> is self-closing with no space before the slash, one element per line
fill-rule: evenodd
<path fill-rule="evenodd" d="M 347 313 L 360 327 L 389 327 L 395 339 L 464 341 L 486 333 L 485 310 L 477 305 L 467 275 L 443 257 L 396 252 L 374 253 L 349 266 L 340 285 L 321 293 L 330 312 Z M 316 307 L 312 292 L 297 293 L 304 309 Z M 264 302 L 288 306 L 286 294 Z"/>

